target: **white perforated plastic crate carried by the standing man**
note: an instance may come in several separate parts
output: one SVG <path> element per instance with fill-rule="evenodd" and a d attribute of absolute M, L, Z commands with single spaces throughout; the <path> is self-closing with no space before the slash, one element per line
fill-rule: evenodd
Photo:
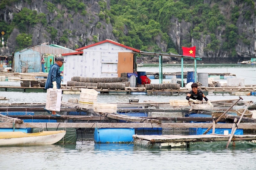
<path fill-rule="evenodd" d="M 46 94 L 46 110 L 60 111 L 61 104 L 61 90 L 53 90 L 52 88 L 47 89 Z"/>

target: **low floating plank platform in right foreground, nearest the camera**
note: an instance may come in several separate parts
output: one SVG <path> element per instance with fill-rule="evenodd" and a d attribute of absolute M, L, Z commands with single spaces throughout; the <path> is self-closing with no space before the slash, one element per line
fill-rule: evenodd
<path fill-rule="evenodd" d="M 144 148 L 226 147 L 230 135 L 132 135 L 134 145 Z M 256 135 L 234 135 L 230 146 L 256 146 Z M 210 146 L 211 145 L 211 146 Z"/>

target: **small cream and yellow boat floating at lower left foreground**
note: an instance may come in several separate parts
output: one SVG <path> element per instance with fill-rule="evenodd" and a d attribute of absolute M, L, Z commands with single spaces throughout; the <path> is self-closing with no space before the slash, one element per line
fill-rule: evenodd
<path fill-rule="evenodd" d="M 38 133 L 0 132 L 0 146 L 55 144 L 66 134 L 65 130 Z"/>

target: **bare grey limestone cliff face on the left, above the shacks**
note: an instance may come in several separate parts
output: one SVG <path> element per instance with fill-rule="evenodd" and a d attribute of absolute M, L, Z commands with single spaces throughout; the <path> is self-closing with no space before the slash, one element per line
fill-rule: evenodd
<path fill-rule="evenodd" d="M 116 41 L 112 33 L 111 24 L 107 24 L 105 20 L 100 19 L 98 16 L 100 13 L 99 1 L 84 1 L 87 13 L 86 15 L 81 15 L 79 12 L 68 10 L 61 4 L 56 6 L 58 10 L 49 12 L 44 0 L 31 0 L 31 4 L 21 0 L 18 3 L 13 3 L 12 6 L 6 6 L 4 10 L 0 10 L 0 16 L 1 19 L 10 24 L 13 19 L 13 13 L 19 13 L 24 7 L 36 10 L 37 13 L 44 13 L 47 19 L 45 26 L 41 23 L 37 23 L 36 26 L 28 26 L 28 33 L 33 35 L 32 45 L 49 42 L 49 44 L 76 49 L 84 47 L 88 43 L 92 44 L 95 41 L 105 39 Z M 109 8 L 109 0 L 107 0 L 107 4 L 107 8 Z M 58 31 L 56 38 L 53 40 L 49 31 L 47 31 L 49 27 L 56 28 Z M 67 43 L 60 42 L 64 32 L 68 33 Z M 7 42 L 5 42 L 6 47 L 1 48 L 1 55 L 9 55 L 15 52 L 15 47 L 17 46 L 15 38 L 18 34 L 20 34 L 19 29 L 14 28 Z"/>

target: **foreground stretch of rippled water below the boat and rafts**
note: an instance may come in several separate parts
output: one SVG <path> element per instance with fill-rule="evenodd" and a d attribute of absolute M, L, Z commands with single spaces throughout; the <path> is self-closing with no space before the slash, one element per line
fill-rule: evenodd
<path fill-rule="evenodd" d="M 133 144 L 77 142 L 1 147 L 0 164 L 1 169 L 9 169 L 10 165 L 12 169 L 214 169 L 210 165 L 218 165 L 220 169 L 254 169 L 255 150 L 255 147 L 146 149 Z"/>

